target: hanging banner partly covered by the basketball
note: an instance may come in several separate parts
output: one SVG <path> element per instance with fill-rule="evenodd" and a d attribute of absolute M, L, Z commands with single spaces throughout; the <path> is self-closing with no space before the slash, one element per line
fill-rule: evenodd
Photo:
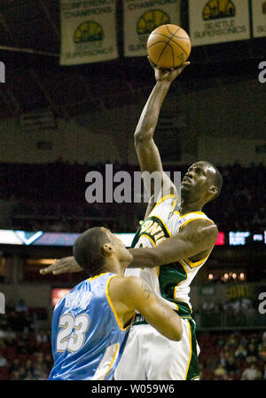
<path fill-rule="evenodd" d="M 146 43 L 153 29 L 180 25 L 180 0 L 123 0 L 124 55 L 146 56 Z"/>

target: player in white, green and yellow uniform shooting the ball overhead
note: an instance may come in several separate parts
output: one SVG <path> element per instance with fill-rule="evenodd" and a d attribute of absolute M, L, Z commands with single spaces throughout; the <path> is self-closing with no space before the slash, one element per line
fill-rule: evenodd
<path fill-rule="evenodd" d="M 217 227 L 202 208 L 219 195 L 222 176 L 211 163 L 192 164 L 181 184 L 180 208 L 174 211 L 176 189 L 162 169 L 160 154 L 153 141 L 160 107 L 170 84 L 187 64 L 171 71 L 154 68 L 156 84 L 137 124 L 135 147 L 141 171 L 157 171 L 168 195 L 153 195 L 145 222 L 132 243 L 135 249 L 130 250 L 133 261 L 129 265 L 141 268 L 138 274 L 134 270 L 134 274 L 142 277 L 161 300 L 176 309 L 183 322 L 183 338 L 179 342 L 171 342 L 160 337 L 138 314 L 115 373 L 118 380 L 199 378 L 199 347 L 189 291 L 192 279 L 215 245 Z M 43 273 L 78 270 L 73 259 L 66 258 L 44 269 Z"/>

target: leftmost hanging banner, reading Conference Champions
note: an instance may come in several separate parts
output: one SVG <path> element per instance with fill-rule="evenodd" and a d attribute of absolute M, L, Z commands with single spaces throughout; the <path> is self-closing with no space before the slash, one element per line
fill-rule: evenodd
<path fill-rule="evenodd" d="M 77 65 L 118 57 L 116 0 L 61 0 L 60 65 Z"/>

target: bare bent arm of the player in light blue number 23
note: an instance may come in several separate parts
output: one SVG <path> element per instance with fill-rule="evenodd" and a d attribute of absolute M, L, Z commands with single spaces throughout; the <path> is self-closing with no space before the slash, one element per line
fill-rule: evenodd
<path fill-rule="evenodd" d="M 137 310 L 166 338 L 181 340 L 183 327 L 179 315 L 157 299 L 152 288 L 142 279 L 137 276 L 115 277 L 109 284 L 109 295 L 118 316 Z"/>

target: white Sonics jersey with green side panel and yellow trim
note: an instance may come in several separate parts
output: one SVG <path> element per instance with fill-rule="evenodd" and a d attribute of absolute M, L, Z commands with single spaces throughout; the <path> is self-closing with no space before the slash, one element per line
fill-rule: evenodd
<path fill-rule="evenodd" d="M 202 211 L 192 211 L 183 216 L 176 207 L 176 195 L 168 195 L 160 199 L 153 207 L 153 211 L 137 230 L 132 242 L 132 247 L 154 247 L 170 236 L 179 234 L 182 228 L 194 219 L 208 219 Z M 205 259 L 193 262 L 191 259 L 177 259 L 175 263 L 165 266 L 127 270 L 126 275 L 138 275 L 153 287 L 156 296 L 166 301 L 182 317 L 191 317 L 192 306 L 190 302 L 190 285 L 202 267 Z M 133 272 L 132 272 L 133 271 Z M 143 322 L 137 316 L 136 323 Z"/>

